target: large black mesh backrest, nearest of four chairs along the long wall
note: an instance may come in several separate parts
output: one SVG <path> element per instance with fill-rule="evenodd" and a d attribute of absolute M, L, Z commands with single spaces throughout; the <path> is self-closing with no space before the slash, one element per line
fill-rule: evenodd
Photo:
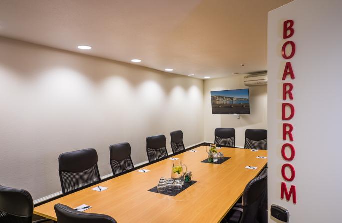
<path fill-rule="evenodd" d="M 101 180 L 97 152 L 93 148 L 59 155 L 59 177 L 63 194 L 73 192 Z"/>

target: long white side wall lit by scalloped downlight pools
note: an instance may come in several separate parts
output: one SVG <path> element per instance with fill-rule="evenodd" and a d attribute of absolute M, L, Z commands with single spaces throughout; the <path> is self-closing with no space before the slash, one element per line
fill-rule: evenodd
<path fill-rule="evenodd" d="M 146 136 L 181 129 L 203 141 L 203 80 L 0 37 L 0 184 L 34 199 L 61 190 L 58 155 L 127 141 L 135 164 Z"/>

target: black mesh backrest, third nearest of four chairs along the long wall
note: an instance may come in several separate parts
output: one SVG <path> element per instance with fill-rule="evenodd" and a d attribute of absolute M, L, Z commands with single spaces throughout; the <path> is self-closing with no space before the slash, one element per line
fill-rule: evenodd
<path fill-rule="evenodd" d="M 165 135 L 150 136 L 146 138 L 146 150 L 149 162 L 167 158 Z"/>

